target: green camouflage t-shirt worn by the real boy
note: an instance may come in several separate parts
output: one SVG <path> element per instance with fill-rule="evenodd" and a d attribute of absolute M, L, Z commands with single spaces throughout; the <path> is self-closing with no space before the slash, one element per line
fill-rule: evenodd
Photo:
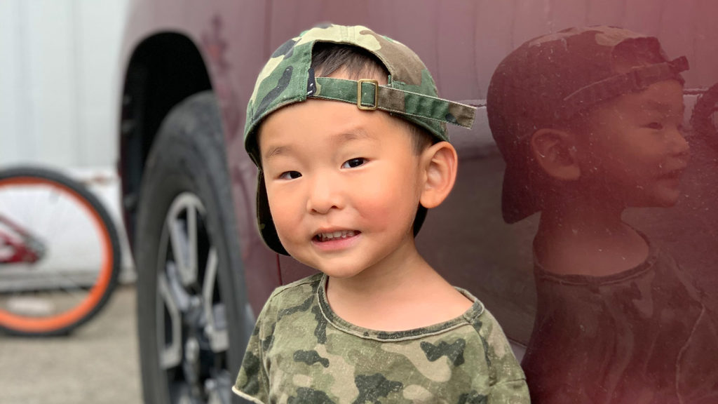
<path fill-rule="evenodd" d="M 409 331 L 363 329 L 332 312 L 322 274 L 277 288 L 262 309 L 233 391 L 253 403 L 529 403 L 495 318 Z"/>

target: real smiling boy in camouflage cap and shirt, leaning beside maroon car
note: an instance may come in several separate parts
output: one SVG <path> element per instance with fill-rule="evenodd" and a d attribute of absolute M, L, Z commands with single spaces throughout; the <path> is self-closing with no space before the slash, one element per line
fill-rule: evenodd
<path fill-rule="evenodd" d="M 503 331 L 414 245 L 454 183 L 437 98 L 404 45 L 330 25 L 281 45 L 247 108 L 264 241 L 321 272 L 277 288 L 233 391 L 253 403 L 528 403 Z"/>

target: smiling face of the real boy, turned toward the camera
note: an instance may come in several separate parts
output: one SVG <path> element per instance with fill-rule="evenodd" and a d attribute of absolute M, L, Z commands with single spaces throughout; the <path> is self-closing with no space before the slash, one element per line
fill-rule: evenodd
<path fill-rule="evenodd" d="M 421 158 L 406 125 L 381 111 L 309 100 L 271 114 L 259 148 L 281 244 L 333 277 L 415 252 Z"/>

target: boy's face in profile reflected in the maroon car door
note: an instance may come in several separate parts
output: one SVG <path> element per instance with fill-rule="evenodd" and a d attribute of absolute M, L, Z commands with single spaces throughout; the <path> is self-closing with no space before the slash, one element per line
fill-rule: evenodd
<path fill-rule="evenodd" d="M 588 151 L 582 180 L 597 197 L 625 206 L 672 206 L 689 160 L 683 114 L 683 87 L 674 80 L 595 107 L 579 141 Z"/>

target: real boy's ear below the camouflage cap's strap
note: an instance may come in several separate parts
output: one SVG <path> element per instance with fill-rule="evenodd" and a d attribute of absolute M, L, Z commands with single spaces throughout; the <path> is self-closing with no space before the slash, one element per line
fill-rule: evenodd
<path fill-rule="evenodd" d="M 432 144 L 421 153 L 425 175 L 424 189 L 419 199 L 421 206 L 435 208 L 449 196 L 456 182 L 458 160 L 456 150 L 449 142 Z"/>

